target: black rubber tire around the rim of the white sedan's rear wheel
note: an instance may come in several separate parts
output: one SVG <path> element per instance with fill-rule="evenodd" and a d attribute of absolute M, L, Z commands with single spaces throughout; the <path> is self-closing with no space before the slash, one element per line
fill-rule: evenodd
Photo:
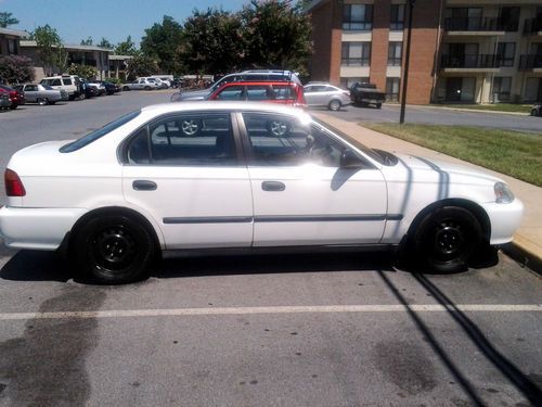
<path fill-rule="evenodd" d="M 95 260 L 94 239 L 112 227 L 119 227 L 130 233 L 134 242 L 133 259 L 121 270 L 109 271 Z M 155 244 L 145 227 L 126 215 L 102 215 L 89 219 L 78 231 L 74 241 L 75 259 L 79 274 L 92 282 L 119 284 L 140 280 L 155 255 Z"/>

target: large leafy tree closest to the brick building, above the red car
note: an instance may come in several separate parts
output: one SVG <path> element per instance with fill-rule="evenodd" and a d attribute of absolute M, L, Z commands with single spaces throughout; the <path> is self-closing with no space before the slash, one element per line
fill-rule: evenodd
<path fill-rule="evenodd" d="M 310 17 L 302 2 L 253 0 L 241 12 L 245 62 L 254 67 L 307 72 L 312 52 Z"/>

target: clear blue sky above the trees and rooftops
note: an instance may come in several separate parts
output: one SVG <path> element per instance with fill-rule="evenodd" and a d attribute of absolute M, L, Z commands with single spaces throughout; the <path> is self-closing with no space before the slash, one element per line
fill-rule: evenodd
<path fill-rule="evenodd" d="M 9 28 L 31 31 L 49 24 L 65 43 L 79 44 L 102 37 L 116 44 L 130 35 L 139 46 L 145 28 L 170 15 L 178 23 L 197 9 L 217 8 L 238 11 L 248 0 L 0 0 L 0 12 L 12 13 L 20 21 Z"/>

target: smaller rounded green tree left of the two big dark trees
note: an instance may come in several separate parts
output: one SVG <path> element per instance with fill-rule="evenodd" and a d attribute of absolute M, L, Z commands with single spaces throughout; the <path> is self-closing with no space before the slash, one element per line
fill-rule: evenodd
<path fill-rule="evenodd" d="M 141 39 L 141 52 L 143 55 L 157 61 L 163 73 L 180 73 L 179 47 L 182 42 L 182 27 L 173 17 L 165 15 L 162 24 L 154 24 L 145 29 L 145 36 Z"/>

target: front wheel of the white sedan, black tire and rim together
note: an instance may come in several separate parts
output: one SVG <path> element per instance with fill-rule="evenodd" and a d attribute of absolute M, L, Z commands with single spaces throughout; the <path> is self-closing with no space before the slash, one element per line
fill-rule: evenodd
<path fill-rule="evenodd" d="M 413 263 L 423 271 L 462 271 L 481 242 L 482 228 L 472 212 L 459 206 L 438 207 L 415 230 Z"/>

